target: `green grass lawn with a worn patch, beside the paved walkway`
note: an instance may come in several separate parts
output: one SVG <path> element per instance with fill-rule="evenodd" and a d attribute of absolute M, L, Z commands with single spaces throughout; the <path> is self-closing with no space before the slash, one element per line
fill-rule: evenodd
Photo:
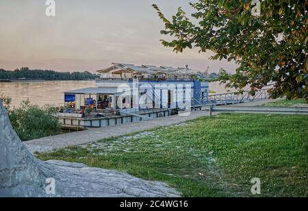
<path fill-rule="evenodd" d="M 308 116 L 220 114 L 38 154 L 159 180 L 183 197 L 308 197 Z M 107 129 L 106 129 L 107 132 Z"/>

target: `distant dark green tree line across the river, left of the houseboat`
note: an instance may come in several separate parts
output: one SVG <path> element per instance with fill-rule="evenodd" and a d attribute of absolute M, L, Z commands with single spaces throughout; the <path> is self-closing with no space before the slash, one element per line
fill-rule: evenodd
<path fill-rule="evenodd" d="M 27 67 L 16 69 L 15 71 L 5 71 L 0 69 L 0 79 L 44 79 L 44 80 L 83 80 L 95 79 L 98 75 L 84 72 L 55 72 L 44 70 L 30 70 Z"/>

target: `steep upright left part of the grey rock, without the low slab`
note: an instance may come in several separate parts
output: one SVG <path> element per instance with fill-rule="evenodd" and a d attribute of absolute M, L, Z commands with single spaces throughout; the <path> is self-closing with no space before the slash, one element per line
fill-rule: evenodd
<path fill-rule="evenodd" d="M 0 196 L 42 197 L 45 177 L 12 129 L 0 100 Z"/>

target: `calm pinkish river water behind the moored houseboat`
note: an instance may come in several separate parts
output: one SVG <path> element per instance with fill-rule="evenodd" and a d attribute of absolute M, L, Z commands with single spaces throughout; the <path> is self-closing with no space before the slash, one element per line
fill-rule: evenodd
<path fill-rule="evenodd" d="M 0 83 L 0 93 L 12 98 L 12 105 L 18 107 L 21 101 L 29 99 L 36 105 L 56 105 L 64 101 L 64 91 L 95 87 L 94 81 L 49 81 Z M 227 92 L 224 85 L 210 83 L 209 89 L 217 94 Z"/>

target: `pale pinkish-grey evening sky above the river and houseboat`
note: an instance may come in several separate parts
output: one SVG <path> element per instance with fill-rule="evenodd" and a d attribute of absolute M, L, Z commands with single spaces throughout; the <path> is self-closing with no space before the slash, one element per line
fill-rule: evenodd
<path fill-rule="evenodd" d="M 196 1 L 196 0 L 192 0 Z M 164 23 L 151 7 L 159 5 L 167 17 L 185 0 L 55 0 L 55 16 L 47 16 L 45 0 L 0 1 L 0 69 L 90 71 L 112 62 L 156 66 L 185 66 L 211 72 L 234 73 L 236 65 L 213 61 L 211 52 L 188 49 L 175 53 L 159 40 Z"/>

